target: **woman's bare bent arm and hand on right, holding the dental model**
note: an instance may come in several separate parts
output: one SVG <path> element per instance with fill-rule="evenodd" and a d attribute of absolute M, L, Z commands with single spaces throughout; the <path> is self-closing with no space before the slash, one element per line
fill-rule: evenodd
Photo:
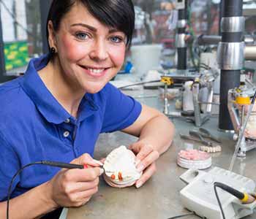
<path fill-rule="evenodd" d="M 155 161 L 170 147 L 174 126 L 161 112 L 143 105 L 139 118 L 123 131 L 139 137 L 138 142 L 129 146 L 136 154 L 138 171 L 143 171 L 135 183 L 139 188 L 157 171 Z"/>

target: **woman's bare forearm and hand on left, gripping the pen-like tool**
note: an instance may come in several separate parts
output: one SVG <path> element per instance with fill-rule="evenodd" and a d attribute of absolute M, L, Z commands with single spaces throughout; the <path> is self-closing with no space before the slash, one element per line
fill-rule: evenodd
<path fill-rule="evenodd" d="M 84 154 L 72 164 L 89 164 L 88 169 L 61 169 L 50 181 L 10 200 L 10 219 L 40 218 L 59 207 L 78 207 L 97 193 L 99 163 Z M 28 179 L 29 180 L 29 179 Z M 7 201 L 0 202 L 0 218 L 6 218 Z"/>

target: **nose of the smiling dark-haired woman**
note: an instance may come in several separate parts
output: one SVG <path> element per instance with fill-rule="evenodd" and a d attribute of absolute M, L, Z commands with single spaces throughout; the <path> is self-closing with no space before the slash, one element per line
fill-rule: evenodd
<path fill-rule="evenodd" d="M 105 61 L 108 58 L 108 49 L 104 40 L 96 40 L 89 53 L 90 58 L 95 61 Z"/>

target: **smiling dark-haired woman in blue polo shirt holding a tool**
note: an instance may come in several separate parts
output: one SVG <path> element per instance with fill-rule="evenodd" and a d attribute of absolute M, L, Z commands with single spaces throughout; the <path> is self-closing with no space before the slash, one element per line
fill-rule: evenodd
<path fill-rule="evenodd" d="M 86 204 L 102 174 L 99 161 L 91 158 L 102 132 L 139 137 L 129 146 L 143 170 L 137 188 L 154 174 L 155 161 L 172 141 L 173 125 L 108 83 L 121 69 L 133 28 L 131 1 L 53 0 L 50 55 L 31 60 L 24 77 L 0 88 L 0 218 L 13 174 L 34 161 L 91 168 L 23 170 L 12 186 L 11 218 L 40 218 L 59 207 Z"/>

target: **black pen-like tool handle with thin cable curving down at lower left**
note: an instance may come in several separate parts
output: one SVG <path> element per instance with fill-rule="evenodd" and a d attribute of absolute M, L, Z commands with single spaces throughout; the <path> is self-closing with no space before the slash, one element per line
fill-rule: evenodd
<path fill-rule="evenodd" d="M 8 188 L 8 193 L 7 193 L 7 219 L 9 219 L 9 209 L 10 209 L 10 196 L 11 196 L 11 191 L 12 191 L 12 183 L 15 180 L 15 177 L 20 174 L 20 172 L 23 171 L 26 167 L 36 165 L 36 164 L 41 164 L 41 165 L 47 165 L 47 166 L 56 166 L 56 167 L 61 167 L 61 168 L 66 168 L 66 169 L 86 169 L 88 166 L 86 164 L 84 165 L 78 165 L 78 164 L 66 164 L 66 163 L 61 163 L 61 162 L 54 162 L 54 161 L 37 161 L 34 163 L 26 164 L 25 166 L 21 167 L 12 177 L 12 180 L 10 182 L 9 188 Z"/>

